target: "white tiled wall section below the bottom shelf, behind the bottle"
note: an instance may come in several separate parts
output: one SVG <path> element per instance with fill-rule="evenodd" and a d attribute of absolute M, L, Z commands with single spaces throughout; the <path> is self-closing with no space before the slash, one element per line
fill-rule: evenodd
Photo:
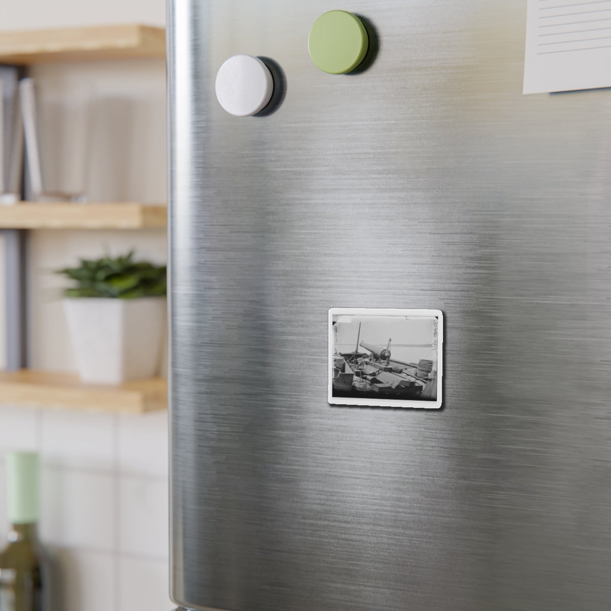
<path fill-rule="evenodd" d="M 41 453 L 40 538 L 56 559 L 61 611 L 169 611 L 167 412 L 142 416 L 0 407 L 4 456 Z"/>

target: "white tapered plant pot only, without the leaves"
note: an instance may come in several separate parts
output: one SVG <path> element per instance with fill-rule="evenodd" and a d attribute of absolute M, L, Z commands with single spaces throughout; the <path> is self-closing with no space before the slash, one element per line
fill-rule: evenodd
<path fill-rule="evenodd" d="M 120 384 L 158 374 L 166 299 L 64 299 L 81 381 Z"/>

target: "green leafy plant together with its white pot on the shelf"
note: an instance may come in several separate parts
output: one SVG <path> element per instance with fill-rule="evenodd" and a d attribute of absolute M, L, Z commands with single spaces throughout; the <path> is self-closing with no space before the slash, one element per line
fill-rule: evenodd
<path fill-rule="evenodd" d="M 76 282 L 64 310 L 81 381 L 120 384 L 158 373 L 166 327 L 166 266 L 124 257 L 57 271 Z"/>

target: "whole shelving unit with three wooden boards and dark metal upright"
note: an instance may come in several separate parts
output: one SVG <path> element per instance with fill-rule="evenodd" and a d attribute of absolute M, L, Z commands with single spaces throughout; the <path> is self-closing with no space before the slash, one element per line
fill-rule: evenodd
<path fill-rule="evenodd" d="M 161 27 L 139 24 L 2 32 L 0 64 L 163 58 Z M 23 75 L 24 68 L 19 68 Z M 166 207 L 139 202 L 0 205 L 5 238 L 7 369 L 0 372 L 0 402 L 37 408 L 142 414 L 167 409 L 167 381 L 152 378 L 121 386 L 92 386 L 77 376 L 28 370 L 26 365 L 26 243 L 31 229 L 139 230 L 166 227 Z"/>

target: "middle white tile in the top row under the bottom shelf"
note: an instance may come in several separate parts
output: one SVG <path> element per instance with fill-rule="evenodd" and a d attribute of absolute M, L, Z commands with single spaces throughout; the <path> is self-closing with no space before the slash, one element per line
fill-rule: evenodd
<path fill-rule="evenodd" d="M 112 414 L 49 410 L 41 416 L 47 464 L 112 471 Z"/>

